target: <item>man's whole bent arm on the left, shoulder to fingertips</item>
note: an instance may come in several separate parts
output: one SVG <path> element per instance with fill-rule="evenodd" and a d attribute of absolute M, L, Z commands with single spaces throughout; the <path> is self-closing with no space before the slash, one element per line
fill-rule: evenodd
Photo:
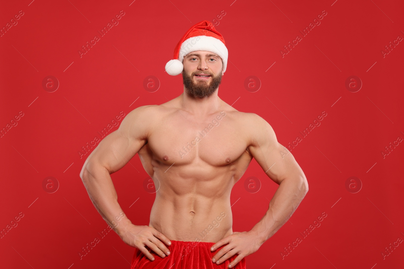
<path fill-rule="evenodd" d="M 154 112 L 149 106 L 131 111 L 118 130 L 106 136 L 91 152 L 80 172 L 88 196 L 103 219 L 126 244 L 141 250 L 151 261 L 154 261 L 154 256 L 147 248 L 164 258 L 170 252 L 162 242 L 167 245 L 171 242 L 153 227 L 132 224 L 118 204 L 110 174 L 124 167 L 145 145 Z"/>

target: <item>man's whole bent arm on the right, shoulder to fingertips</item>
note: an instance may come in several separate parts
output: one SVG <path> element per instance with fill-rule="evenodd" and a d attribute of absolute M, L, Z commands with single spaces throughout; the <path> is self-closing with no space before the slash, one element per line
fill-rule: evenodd
<path fill-rule="evenodd" d="M 265 173 L 279 185 L 269 202 L 264 217 L 250 231 L 234 232 L 210 248 L 219 250 L 212 261 L 216 264 L 237 254 L 228 265 L 235 267 L 245 256 L 256 252 L 292 216 L 309 190 L 306 177 L 292 154 L 276 140 L 272 127 L 261 117 L 248 113 L 243 125 L 248 134 L 248 151 Z"/>

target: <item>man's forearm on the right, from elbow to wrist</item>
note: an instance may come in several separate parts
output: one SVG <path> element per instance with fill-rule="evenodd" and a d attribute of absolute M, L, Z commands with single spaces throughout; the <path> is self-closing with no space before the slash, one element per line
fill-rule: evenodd
<path fill-rule="evenodd" d="M 286 178 L 269 202 L 268 211 L 251 231 L 257 233 L 260 245 L 273 236 L 292 216 L 308 191 L 304 177 Z"/>

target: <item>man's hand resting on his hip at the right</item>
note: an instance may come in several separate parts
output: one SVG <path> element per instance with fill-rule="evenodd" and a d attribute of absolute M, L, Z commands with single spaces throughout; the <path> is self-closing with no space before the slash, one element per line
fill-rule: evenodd
<path fill-rule="evenodd" d="M 227 245 L 221 248 L 221 250 L 213 256 L 212 261 L 216 262 L 216 264 L 221 264 L 225 260 L 234 256 L 234 254 L 238 254 L 236 259 L 229 264 L 229 268 L 236 266 L 241 259 L 256 252 L 261 246 L 257 241 L 257 234 L 254 234 L 251 231 L 236 231 L 215 243 L 210 248 L 210 251 L 215 251 L 225 244 Z"/>

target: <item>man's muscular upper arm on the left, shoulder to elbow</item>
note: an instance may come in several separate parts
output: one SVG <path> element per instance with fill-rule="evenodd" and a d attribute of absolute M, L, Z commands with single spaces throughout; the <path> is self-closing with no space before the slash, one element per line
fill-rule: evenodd
<path fill-rule="evenodd" d="M 145 107 L 135 108 L 122 120 L 118 130 L 106 136 L 88 156 L 84 166 L 105 167 L 112 174 L 126 165 L 147 141 Z"/>

